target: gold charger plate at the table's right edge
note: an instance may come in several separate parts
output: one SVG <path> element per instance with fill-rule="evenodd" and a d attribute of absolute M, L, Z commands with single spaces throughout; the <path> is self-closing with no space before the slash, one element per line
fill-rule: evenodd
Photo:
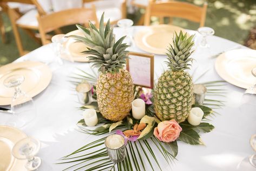
<path fill-rule="evenodd" d="M 227 82 L 244 89 L 256 83 L 251 70 L 256 67 L 256 50 L 235 49 L 218 56 L 215 69 Z"/>

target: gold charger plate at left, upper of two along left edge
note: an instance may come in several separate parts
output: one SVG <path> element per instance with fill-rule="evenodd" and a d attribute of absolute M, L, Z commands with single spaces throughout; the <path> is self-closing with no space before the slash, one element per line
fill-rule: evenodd
<path fill-rule="evenodd" d="M 25 61 L 0 67 L 0 106 L 11 104 L 14 88 L 4 86 L 5 78 L 11 75 L 24 76 L 25 80 L 21 84 L 21 89 L 31 97 L 47 88 L 52 76 L 50 68 L 41 62 Z"/>

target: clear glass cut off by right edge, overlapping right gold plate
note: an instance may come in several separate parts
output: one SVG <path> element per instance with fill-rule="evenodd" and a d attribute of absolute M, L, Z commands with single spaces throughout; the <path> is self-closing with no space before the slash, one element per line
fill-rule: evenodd
<path fill-rule="evenodd" d="M 252 69 L 252 75 L 256 77 L 256 68 Z M 256 83 L 248 88 L 242 96 L 242 104 L 248 104 L 250 108 L 256 108 Z"/>

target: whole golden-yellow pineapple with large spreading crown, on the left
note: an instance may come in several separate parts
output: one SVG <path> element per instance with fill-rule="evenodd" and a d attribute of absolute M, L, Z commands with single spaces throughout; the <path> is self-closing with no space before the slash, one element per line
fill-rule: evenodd
<path fill-rule="evenodd" d="M 134 95 L 134 85 L 130 73 L 124 69 L 128 58 L 125 36 L 115 42 L 113 28 L 108 20 L 104 28 L 104 13 L 101 16 L 100 29 L 89 22 L 89 28 L 77 25 L 84 37 L 70 36 L 76 41 L 88 45 L 83 51 L 90 54 L 89 61 L 93 67 L 99 68 L 100 76 L 96 83 L 97 102 L 103 117 L 111 121 L 121 121 L 131 109 Z"/>

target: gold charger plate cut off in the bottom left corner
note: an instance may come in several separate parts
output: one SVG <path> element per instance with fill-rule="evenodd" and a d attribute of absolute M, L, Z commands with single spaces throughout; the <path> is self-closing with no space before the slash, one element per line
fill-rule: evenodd
<path fill-rule="evenodd" d="M 21 130 L 0 126 L 0 171 L 25 171 L 26 160 L 18 160 L 11 154 L 14 144 L 27 137 Z"/>

